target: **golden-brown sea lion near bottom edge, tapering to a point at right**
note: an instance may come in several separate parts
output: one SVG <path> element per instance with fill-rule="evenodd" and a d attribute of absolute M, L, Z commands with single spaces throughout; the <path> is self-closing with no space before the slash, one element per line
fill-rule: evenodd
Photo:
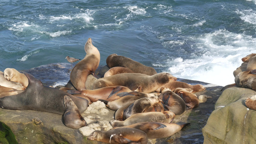
<path fill-rule="evenodd" d="M 173 135 L 182 130 L 190 123 L 166 123 L 166 122 L 138 122 L 123 127 L 114 127 L 113 129 L 120 128 L 134 128 L 139 129 L 146 133 L 148 139 L 165 138 Z"/>

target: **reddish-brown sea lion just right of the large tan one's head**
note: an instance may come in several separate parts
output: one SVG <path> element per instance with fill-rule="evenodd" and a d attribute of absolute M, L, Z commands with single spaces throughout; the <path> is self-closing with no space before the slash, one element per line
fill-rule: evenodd
<path fill-rule="evenodd" d="M 167 87 L 170 88 L 171 91 L 174 91 L 176 88 L 191 88 L 193 89 L 192 93 L 204 91 L 206 88 L 202 84 L 187 84 L 184 82 L 179 82 L 179 81 L 174 81 L 174 82 L 169 82 L 167 84 L 164 84 L 162 87 Z M 159 90 L 159 89 L 158 89 Z"/>

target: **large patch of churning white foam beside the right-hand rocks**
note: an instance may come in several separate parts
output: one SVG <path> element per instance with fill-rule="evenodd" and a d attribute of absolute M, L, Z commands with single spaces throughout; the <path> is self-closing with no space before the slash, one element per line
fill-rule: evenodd
<path fill-rule="evenodd" d="M 202 55 L 197 54 L 197 57 L 192 56 L 191 59 L 186 60 L 182 58 L 166 60 L 165 65 L 169 66 L 168 71 L 177 78 L 221 86 L 233 84 L 233 71 L 241 66 L 241 59 L 250 53 L 256 53 L 254 48 L 256 38 L 231 33 L 225 29 L 199 37 L 191 37 L 191 40 L 199 40 L 196 45 L 199 51 L 203 50 Z M 173 41 L 169 44 L 173 45 Z"/>

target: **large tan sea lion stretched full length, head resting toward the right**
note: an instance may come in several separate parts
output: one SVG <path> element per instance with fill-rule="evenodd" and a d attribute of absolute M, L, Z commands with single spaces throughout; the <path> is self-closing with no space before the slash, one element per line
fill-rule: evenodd
<path fill-rule="evenodd" d="M 93 89 L 122 85 L 127 86 L 129 89 L 134 91 L 139 85 L 141 85 L 143 88 L 142 92 L 151 93 L 158 89 L 158 87 L 176 80 L 176 77 L 173 77 L 167 72 L 157 73 L 152 76 L 141 73 L 120 73 L 96 80 L 93 84 Z"/>

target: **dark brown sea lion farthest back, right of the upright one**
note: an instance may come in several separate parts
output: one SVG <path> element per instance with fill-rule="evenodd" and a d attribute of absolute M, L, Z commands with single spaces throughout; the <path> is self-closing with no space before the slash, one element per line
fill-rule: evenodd
<path fill-rule="evenodd" d="M 112 67 L 125 67 L 129 68 L 135 73 L 143 73 L 146 75 L 154 75 L 157 74 L 156 70 L 152 67 L 147 67 L 137 61 L 134 61 L 130 58 L 126 58 L 124 56 L 118 56 L 117 54 L 111 54 L 108 56 L 107 65 Z"/>

